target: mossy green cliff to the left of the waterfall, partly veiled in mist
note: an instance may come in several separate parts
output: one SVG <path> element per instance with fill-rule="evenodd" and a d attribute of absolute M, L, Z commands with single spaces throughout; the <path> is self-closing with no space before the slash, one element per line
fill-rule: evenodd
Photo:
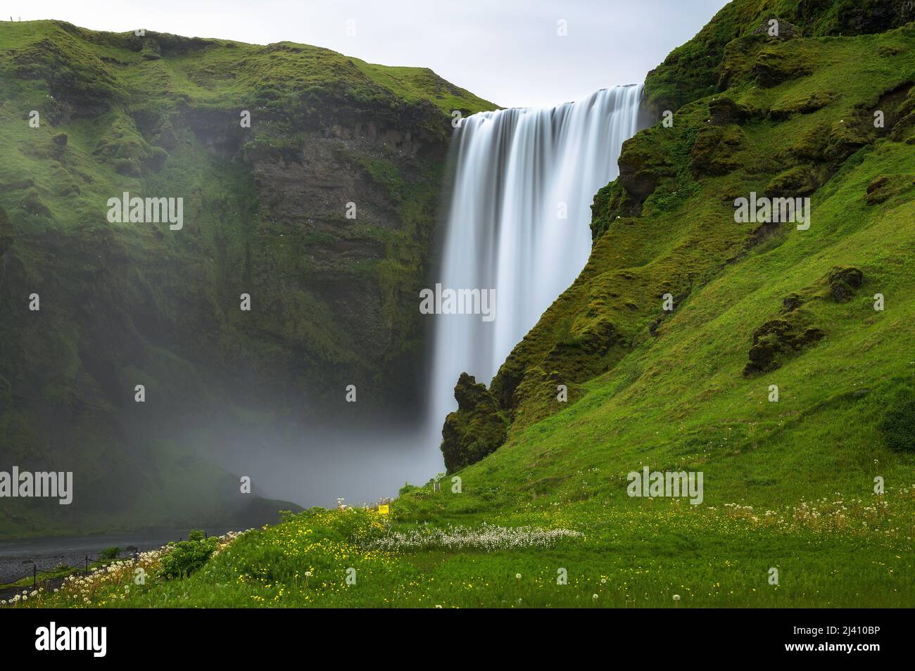
<path fill-rule="evenodd" d="M 219 517 L 237 478 L 182 431 L 313 426 L 348 384 L 412 411 L 450 113 L 491 107 L 305 45 L 0 23 L 0 468 L 82 493 L 0 528 Z M 109 223 L 124 192 L 183 198 L 183 228 Z"/>

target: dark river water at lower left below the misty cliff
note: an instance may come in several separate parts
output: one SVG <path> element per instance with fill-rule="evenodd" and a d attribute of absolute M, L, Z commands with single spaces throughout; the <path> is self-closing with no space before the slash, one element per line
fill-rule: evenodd
<path fill-rule="evenodd" d="M 210 536 L 219 536 L 228 529 L 207 529 Z M 0 540 L 0 584 L 19 580 L 32 574 L 32 562 L 39 570 L 54 570 L 59 564 L 85 566 L 86 556 L 97 559 L 103 549 L 118 547 L 121 557 L 128 556 L 128 546 L 140 552 L 161 548 L 169 540 L 188 538 L 189 529 L 161 529 L 134 534 L 24 538 Z"/>

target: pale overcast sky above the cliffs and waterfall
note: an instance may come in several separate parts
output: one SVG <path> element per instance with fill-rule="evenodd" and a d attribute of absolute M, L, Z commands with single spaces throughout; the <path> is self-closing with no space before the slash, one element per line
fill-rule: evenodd
<path fill-rule="evenodd" d="M 434 69 L 482 98 L 555 105 L 638 83 L 726 0 L 120 0 L 4 3 L 15 18 L 254 44 L 288 40 Z M 26 12 L 25 14 L 23 12 Z M 565 37 L 557 35 L 565 20 Z M 355 35 L 348 35 L 348 22 Z M 351 31 L 350 31 L 351 32 Z M 2 46 L 2 45 L 0 45 Z"/>

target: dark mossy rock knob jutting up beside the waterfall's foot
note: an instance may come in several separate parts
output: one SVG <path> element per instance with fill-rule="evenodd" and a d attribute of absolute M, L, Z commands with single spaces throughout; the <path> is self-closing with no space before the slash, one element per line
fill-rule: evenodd
<path fill-rule="evenodd" d="M 455 386 L 458 410 L 450 413 L 442 427 L 442 455 L 448 473 L 477 463 L 503 442 L 509 422 L 486 385 L 461 373 Z"/>

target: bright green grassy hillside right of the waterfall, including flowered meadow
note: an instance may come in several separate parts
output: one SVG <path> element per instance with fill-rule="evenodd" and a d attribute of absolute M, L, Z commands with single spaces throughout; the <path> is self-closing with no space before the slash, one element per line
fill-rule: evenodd
<path fill-rule="evenodd" d="M 798 31 L 754 34 L 776 5 Z M 498 414 L 498 449 L 390 516 L 306 511 L 90 603 L 910 607 L 915 27 L 816 37 L 849 4 L 811 5 L 737 2 L 700 33 L 748 17 L 707 53 L 721 88 L 684 78 L 673 125 L 624 146 L 587 267 L 449 418 Z M 810 197 L 810 228 L 737 223 L 750 192 Z M 631 497 L 645 466 L 701 472 L 702 503 Z"/>

